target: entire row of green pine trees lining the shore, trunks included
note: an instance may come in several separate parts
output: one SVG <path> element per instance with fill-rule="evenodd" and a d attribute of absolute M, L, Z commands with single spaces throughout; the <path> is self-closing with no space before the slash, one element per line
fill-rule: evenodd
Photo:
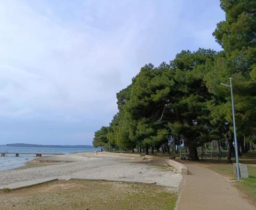
<path fill-rule="evenodd" d="M 117 93 L 118 112 L 95 132 L 93 146 L 169 152 L 182 139 L 193 160 L 205 142 L 227 139 L 234 154 L 229 77 L 234 100 L 239 152 L 255 142 L 256 1 L 221 0 L 226 20 L 213 36 L 222 51 L 181 51 L 169 63 L 146 64 L 132 83 Z M 174 150 L 176 147 L 173 148 Z"/>

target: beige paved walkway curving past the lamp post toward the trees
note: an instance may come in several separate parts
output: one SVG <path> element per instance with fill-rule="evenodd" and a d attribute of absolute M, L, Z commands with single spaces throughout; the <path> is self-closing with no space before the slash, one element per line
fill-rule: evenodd
<path fill-rule="evenodd" d="M 204 168 L 198 163 L 182 161 L 188 167 L 189 175 L 183 176 L 178 210 L 221 209 L 255 210 L 243 199 L 228 179 Z"/>

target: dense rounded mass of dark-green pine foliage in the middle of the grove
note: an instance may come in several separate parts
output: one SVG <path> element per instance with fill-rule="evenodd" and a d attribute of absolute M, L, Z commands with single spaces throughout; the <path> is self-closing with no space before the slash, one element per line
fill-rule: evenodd
<path fill-rule="evenodd" d="M 215 54 L 182 51 L 170 64 L 142 67 L 132 84 L 117 94 L 119 112 L 108 128 L 110 142 L 132 149 L 160 146 L 172 135 L 183 135 L 194 145 L 209 141 L 211 94 L 203 78 L 206 62 L 213 62 Z M 178 124 L 183 127 L 179 132 L 174 128 Z"/>

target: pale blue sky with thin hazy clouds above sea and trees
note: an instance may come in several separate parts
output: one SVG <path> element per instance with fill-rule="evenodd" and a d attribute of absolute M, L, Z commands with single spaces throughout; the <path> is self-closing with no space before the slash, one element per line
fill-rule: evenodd
<path fill-rule="evenodd" d="M 147 63 L 220 51 L 218 0 L 0 1 L 0 144 L 92 144 Z"/>

